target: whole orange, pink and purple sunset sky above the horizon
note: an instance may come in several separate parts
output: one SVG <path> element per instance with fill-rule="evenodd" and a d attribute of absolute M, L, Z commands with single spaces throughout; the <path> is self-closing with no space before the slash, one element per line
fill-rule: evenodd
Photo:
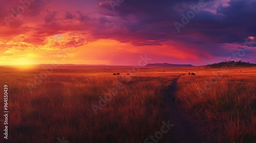
<path fill-rule="evenodd" d="M 19 1 L 0 1 L 0 65 L 256 63 L 256 1 Z"/>

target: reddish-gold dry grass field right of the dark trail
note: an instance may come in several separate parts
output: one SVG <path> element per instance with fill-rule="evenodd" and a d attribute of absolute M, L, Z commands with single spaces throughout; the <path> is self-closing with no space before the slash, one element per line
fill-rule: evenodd
<path fill-rule="evenodd" d="M 256 68 L 202 67 L 193 72 L 196 76 L 182 76 L 177 87 L 188 111 L 211 123 L 220 142 L 255 142 Z"/>

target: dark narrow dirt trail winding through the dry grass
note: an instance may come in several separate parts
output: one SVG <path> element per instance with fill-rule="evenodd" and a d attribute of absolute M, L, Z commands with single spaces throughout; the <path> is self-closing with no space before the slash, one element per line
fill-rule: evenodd
<path fill-rule="evenodd" d="M 184 75 L 184 74 L 183 74 Z M 172 143 L 200 143 L 217 142 L 213 133 L 208 131 L 208 125 L 200 119 L 191 117 L 184 109 L 182 102 L 175 97 L 177 81 L 183 75 L 176 78 L 167 91 L 163 91 L 166 119 L 175 126 L 170 129 Z M 184 85 L 185 86 L 185 85 Z M 174 99 L 175 98 L 175 99 Z M 193 113 L 192 113 L 193 114 Z"/>

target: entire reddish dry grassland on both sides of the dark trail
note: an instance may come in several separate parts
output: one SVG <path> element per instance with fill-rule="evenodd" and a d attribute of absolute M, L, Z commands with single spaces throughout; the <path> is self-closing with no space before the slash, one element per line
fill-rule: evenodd
<path fill-rule="evenodd" d="M 27 83 L 35 83 L 41 71 L 0 68 L 0 87 L 8 85 L 9 142 L 58 142 L 62 137 L 69 142 L 144 142 L 168 120 L 161 91 L 177 79 L 176 97 L 191 116 L 209 123 L 218 142 L 256 140 L 255 67 L 141 68 L 134 73 L 128 67 L 59 66 L 30 92 Z M 159 142 L 169 140 L 167 133 Z"/>

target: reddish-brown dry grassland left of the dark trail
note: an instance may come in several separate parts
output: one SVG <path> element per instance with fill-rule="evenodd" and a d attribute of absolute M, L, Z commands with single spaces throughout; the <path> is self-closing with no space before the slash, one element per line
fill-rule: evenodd
<path fill-rule="evenodd" d="M 40 82 L 40 67 L 2 67 L 0 85 L 9 88 L 8 141 L 144 142 L 165 121 L 161 90 L 180 74 L 126 70 L 59 67 Z M 122 75 L 113 76 L 117 71 Z M 30 92 L 27 83 L 38 85 Z M 106 103 L 99 103 L 106 94 Z M 168 134 L 161 139 L 168 140 Z"/>

